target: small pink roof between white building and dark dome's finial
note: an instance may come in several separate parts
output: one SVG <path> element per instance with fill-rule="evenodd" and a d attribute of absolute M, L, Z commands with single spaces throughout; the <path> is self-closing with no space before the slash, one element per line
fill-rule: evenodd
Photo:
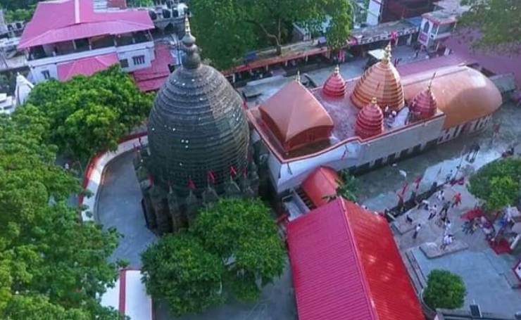
<path fill-rule="evenodd" d="M 170 75 L 168 65 L 174 63 L 174 58 L 168 46 L 156 45 L 156 58 L 152 60 L 150 68 L 134 72 L 134 80 L 141 91 L 154 91 L 160 89 Z"/>

